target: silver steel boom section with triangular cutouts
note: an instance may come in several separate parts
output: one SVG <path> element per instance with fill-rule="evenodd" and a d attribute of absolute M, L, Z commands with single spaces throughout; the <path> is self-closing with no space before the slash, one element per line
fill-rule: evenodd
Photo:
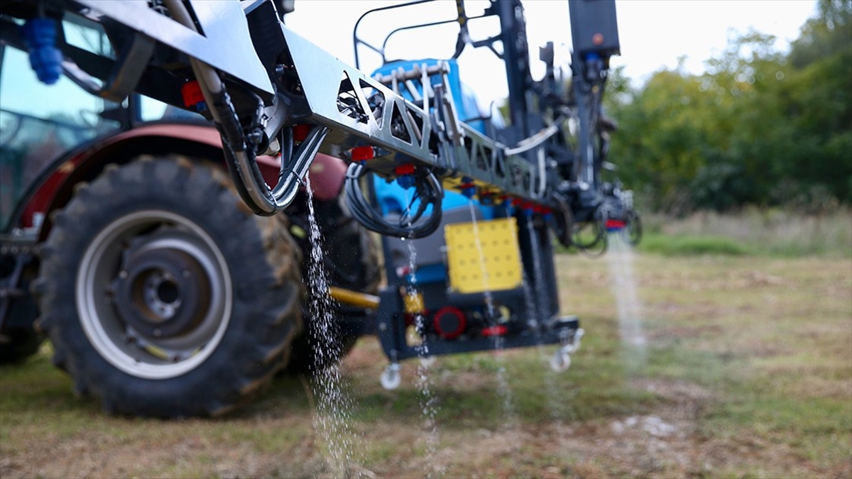
<path fill-rule="evenodd" d="M 366 162 L 392 176 L 400 157 L 435 171 L 446 188 L 458 189 L 464 177 L 481 188 L 538 204 L 550 200 L 541 188 L 544 170 L 458 120 L 446 86 L 429 113 L 385 84 L 348 66 L 282 26 L 287 48 L 310 108 L 311 119 L 331 131 L 321 151 L 346 158 L 354 147 L 376 147 Z M 437 98 L 438 95 L 435 95 Z M 346 107 L 344 107 L 344 105 Z"/>

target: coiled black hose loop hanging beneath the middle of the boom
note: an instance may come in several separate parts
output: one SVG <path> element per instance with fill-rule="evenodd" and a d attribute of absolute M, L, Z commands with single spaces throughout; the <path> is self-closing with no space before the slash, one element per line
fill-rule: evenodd
<path fill-rule="evenodd" d="M 431 171 L 417 170 L 414 187 L 420 197 L 420 205 L 412 216 L 401 216 L 395 224 L 377 212 L 361 192 L 360 180 L 367 171 L 366 167 L 359 163 L 349 164 L 346 170 L 346 202 L 355 220 L 364 225 L 364 228 L 397 238 L 417 239 L 435 233 L 440 227 L 440 205 L 444 198 L 444 189 Z M 432 211 L 422 219 L 429 205 L 432 205 Z"/>

